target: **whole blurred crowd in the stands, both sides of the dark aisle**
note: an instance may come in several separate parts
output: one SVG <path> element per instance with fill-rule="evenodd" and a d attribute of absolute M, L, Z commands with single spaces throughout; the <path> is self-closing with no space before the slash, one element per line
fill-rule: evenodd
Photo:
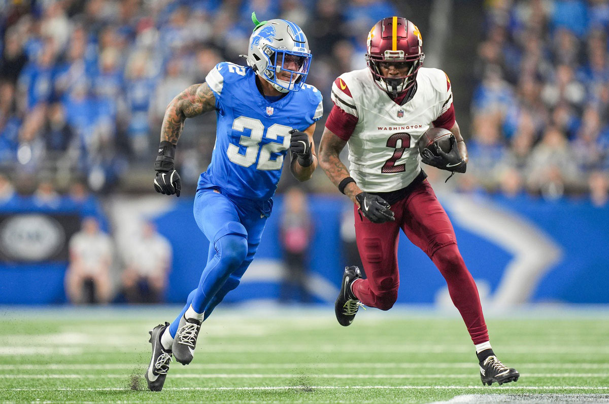
<path fill-rule="evenodd" d="M 74 178 L 100 193 L 117 184 L 152 190 L 144 179 L 167 103 L 219 61 L 245 63 L 239 55 L 247 50 L 252 11 L 303 27 L 314 53 L 308 82 L 329 94 L 334 78 L 365 67 L 368 30 L 405 13 L 400 7 L 406 3 L 4 2 L 0 168 L 23 193 L 34 192 L 41 175 L 62 190 Z M 457 176 L 461 189 L 547 198 L 590 192 L 598 204 L 607 201 L 608 30 L 609 0 L 485 1 L 484 38 L 470 62 L 476 89 L 464 135 L 471 164 Z M 326 114 L 330 109 L 325 97 Z M 210 161 L 215 119 L 206 114 L 185 125 L 177 158 L 186 189 Z"/>

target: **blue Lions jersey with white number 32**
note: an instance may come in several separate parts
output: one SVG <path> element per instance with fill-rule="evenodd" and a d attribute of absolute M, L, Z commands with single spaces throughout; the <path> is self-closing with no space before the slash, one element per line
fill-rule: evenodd
<path fill-rule="evenodd" d="M 270 102 L 256 86 L 252 68 L 222 62 L 206 83 L 216 96 L 216 145 L 199 189 L 269 200 L 275 193 L 292 129 L 304 131 L 323 114 L 322 94 L 311 85 Z"/>

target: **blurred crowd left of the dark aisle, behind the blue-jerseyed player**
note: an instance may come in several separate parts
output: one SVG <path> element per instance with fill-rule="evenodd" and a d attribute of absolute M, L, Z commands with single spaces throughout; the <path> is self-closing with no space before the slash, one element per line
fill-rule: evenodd
<path fill-rule="evenodd" d="M 323 94 L 365 66 L 368 30 L 396 13 L 389 0 L 9 1 L 0 5 L 0 164 L 58 182 L 78 173 L 101 192 L 138 164 L 150 169 L 171 99 L 220 61 L 245 64 L 252 11 L 303 27 L 314 49 L 308 82 Z M 214 122 L 185 125 L 186 183 L 209 162 Z"/>

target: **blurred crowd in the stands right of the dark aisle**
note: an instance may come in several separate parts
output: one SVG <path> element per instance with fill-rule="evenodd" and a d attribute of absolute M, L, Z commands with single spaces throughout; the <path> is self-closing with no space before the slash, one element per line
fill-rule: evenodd
<path fill-rule="evenodd" d="M 605 203 L 608 33 L 607 0 L 486 2 L 465 186 Z"/>

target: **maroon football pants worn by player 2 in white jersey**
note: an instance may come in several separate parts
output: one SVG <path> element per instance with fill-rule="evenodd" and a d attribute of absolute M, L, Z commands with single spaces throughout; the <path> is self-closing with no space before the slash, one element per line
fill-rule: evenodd
<path fill-rule="evenodd" d="M 459 309 L 474 344 L 488 341 L 478 290 L 457 248 L 456 237 L 434 190 L 424 180 L 410 195 L 391 207 L 395 221 L 372 223 L 354 206 L 357 248 L 367 279 L 353 283 L 353 293 L 363 304 L 389 310 L 398 298 L 398 237 L 400 228 L 437 266 L 452 302 Z"/>

